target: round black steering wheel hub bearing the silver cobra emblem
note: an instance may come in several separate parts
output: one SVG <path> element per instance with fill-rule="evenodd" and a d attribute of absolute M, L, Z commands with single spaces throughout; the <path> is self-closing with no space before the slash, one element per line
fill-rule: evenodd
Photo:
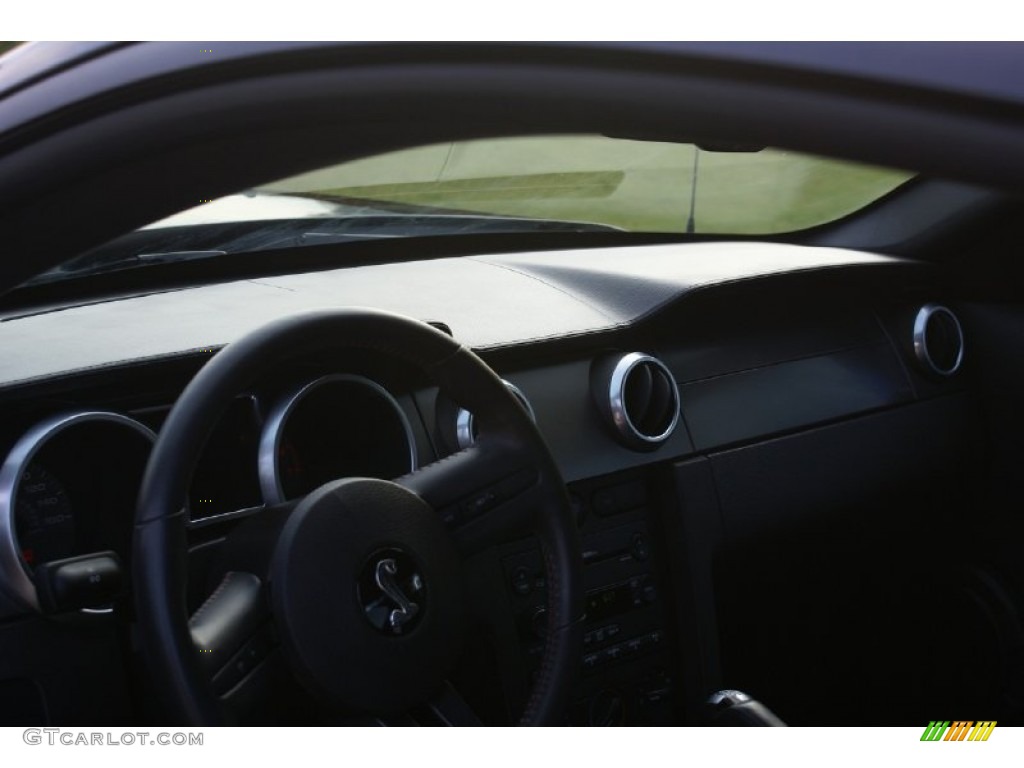
<path fill-rule="evenodd" d="M 434 693 L 461 650 L 460 558 L 434 510 L 384 480 L 346 479 L 292 512 L 271 565 L 291 666 L 340 706 L 388 713 Z"/>

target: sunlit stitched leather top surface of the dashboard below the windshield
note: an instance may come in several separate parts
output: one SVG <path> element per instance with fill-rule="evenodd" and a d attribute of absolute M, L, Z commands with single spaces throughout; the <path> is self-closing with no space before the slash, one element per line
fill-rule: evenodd
<path fill-rule="evenodd" d="M 0 386 L 215 348 L 309 309 L 373 306 L 441 321 L 464 344 L 489 349 L 622 328 L 711 286 L 899 263 L 839 249 L 727 243 L 436 259 L 207 285 L 4 317 Z"/>

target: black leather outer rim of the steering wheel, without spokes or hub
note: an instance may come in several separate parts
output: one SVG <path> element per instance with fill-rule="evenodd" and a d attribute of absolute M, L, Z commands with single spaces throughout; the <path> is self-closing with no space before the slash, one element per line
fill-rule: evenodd
<path fill-rule="evenodd" d="M 142 650 L 169 714 L 191 725 L 225 721 L 188 630 L 185 500 L 195 465 L 238 392 L 290 359 L 331 348 L 377 350 L 416 366 L 446 396 L 474 413 L 494 441 L 528 457 L 540 490 L 531 527 L 543 545 L 548 632 L 519 723 L 556 723 L 582 642 L 580 544 L 558 468 L 532 420 L 476 354 L 431 326 L 373 309 L 295 315 L 229 344 L 194 377 L 160 430 L 139 493 L 132 573 Z M 419 472 L 430 471 L 444 482 L 442 465 L 458 456 Z"/>

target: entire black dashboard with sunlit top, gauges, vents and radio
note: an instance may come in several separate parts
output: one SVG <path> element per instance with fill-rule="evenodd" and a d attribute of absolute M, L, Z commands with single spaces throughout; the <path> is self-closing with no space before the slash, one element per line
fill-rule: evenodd
<path fill-rule="evenodd" d="M 959 300 L 921 262 L 721 243 L 353 267 L 8 317 L 0 720 L 159 719 L 126 575 L 148 447 L 221 346 L 347 305 L 453 334 L 547 441 L 584 552 L 566 723 L 698 722 L 722 687 L 806 724 L 915 724 L 943 696 L 981 696 L 987 681 L 942 687 L 929 660 L 977 638 L 965 627 L 985 610 L 946 525 L 986 450 Z M 226 534 L 264 505 L 474 439 L 472 414 L 381 352 L 334 349 L 252 382 L 195 468 L 190 607 Z M 120 564 L 109 598 L 77 605 L 42 584 L 47 562 L 94 553 Z M 484 722 L 513 722 L 543 647 L 541 552 L 524 535 L 467 569 L 474 622 L 453 682 Z M 941 626 L 936 584 L 967 595 Z M 822 685 L 844 691 L 827 711 Z"/>

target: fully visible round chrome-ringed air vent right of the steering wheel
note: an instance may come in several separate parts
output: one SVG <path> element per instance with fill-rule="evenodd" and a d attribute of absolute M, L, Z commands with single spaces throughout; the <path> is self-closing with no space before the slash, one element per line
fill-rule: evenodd
<path fill-rule="evenodd" d="M 615 436 L 631 449 L 653 451 L 679 424 L 676 379 L 649 354 L 630 352 L 598 360 L 591 388 Z"/>

